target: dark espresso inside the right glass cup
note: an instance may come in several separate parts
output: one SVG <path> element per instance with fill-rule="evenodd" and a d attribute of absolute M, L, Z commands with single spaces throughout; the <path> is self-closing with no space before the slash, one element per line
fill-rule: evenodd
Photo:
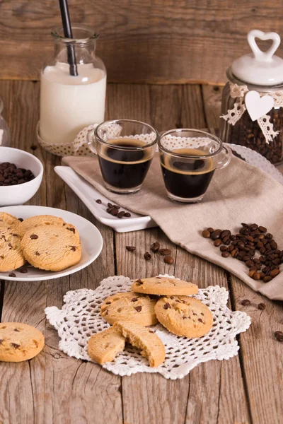
<path fill-rule="evenodd" d="M 214 175 L 216 165 L 212 158 L 197 159 L 203 151 L 192 148 L 173 149 L 172 153 L 185 155 L 185 158 L 166 156 L 161 169 L 168 192 L 184 199 L 202 196 Z M 195 157 L 195 158 L 194 158 Z"/>

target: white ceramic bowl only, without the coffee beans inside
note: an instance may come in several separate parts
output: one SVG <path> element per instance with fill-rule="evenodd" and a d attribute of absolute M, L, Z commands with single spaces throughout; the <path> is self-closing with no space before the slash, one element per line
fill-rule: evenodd
<path fill-rule="evenodd" d="M 31 170 L 35 178 L 23 184 L 0 186 L 0 206 L 22 205 L 30 200 L 40 187 L 43 165 L 39 159 L 18 148 L 0 147 L 0 163 L 10 162 Z"/>

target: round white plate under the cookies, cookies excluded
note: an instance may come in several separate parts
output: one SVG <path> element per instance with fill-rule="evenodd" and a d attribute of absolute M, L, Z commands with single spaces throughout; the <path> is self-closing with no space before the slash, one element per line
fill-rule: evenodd
<path fill-rule="evenodd" d="M 42 281 L 68 276 L 91 264 L 99 256 L 103 247 L 103 238 L 96 226 L 75 213 L 62 211 L 62 209 L 46 208 L 45 206 L 7 206 L 0 208 L 0 212 L 11 213 L 11 215 L 23 219 L 35 215 L 59 216 L 59 218 L 63 218 L 67 223 L 73 224 L 78 229 L 81 238 L 81 261 L 79 261 L 79 264 L 70 266 L 64 269 L 64 271 L 59 272 L 42 271 L 41 269 L 33 268 L 33 266 L 27 266 L 28 273 L 13 271 L 16 277 L 8 276 L 11 271 L 0 272 L 0 280 Z"/>

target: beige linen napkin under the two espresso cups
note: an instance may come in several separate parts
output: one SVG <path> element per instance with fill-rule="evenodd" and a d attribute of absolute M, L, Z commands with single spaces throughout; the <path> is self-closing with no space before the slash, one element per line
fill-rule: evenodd
<path fill-rule="evenodd" d="M 257 223 L 267 227 L 275 236 L 278 248 L 283 249 L 283 187 L 270 175 L 233 157 L 228 167 L 216 170 L 200 204 L 180 204 L 166 195 L 157 156 L 140 192 L 127 195 L 105 189 L 97 158 L 66 157 L 62 163 L 72 167 L 115 204 L 151 216 L 176 245 L 227 269 L 267 298 L 283 300 L 283 272 L 269 283 L 254 281 L 243 262 L 221 257 L 219 248 L 201 235 L 207 227 L 234 233 L 241 223 Z"/>

